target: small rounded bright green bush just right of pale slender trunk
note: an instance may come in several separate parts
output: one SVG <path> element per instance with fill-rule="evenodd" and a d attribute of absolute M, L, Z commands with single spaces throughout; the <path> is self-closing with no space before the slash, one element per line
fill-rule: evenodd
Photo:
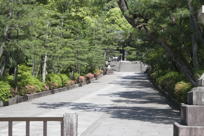
<path fill-rule="evenodd" d="M 62 87 L 62 79 L 59 74 L 48 74 L 46 76 L 46 82 L 50 89 Z"/>

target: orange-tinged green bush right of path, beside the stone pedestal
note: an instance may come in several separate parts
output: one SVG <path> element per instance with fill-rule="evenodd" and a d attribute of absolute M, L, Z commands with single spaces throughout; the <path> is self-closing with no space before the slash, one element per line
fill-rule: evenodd
<path fill-rule="evenodd" d="M 179 103 L 184 103 L 187 100 L 187 93 L 192 89 L 192 84 L 180 81 L 175 85 L 175 96 Z"/>

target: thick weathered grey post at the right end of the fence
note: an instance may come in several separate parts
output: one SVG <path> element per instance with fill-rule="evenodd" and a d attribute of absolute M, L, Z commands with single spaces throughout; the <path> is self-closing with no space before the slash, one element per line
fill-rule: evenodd
<path fill-rule="evenodd" d="M 64 114 L 64 136 L 77 136 L 78 130 L 78 115 Z"/>

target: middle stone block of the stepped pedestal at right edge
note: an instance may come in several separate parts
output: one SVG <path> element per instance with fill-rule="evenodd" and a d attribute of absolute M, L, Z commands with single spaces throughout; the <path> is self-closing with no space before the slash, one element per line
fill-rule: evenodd
<path fill-rule="evenodd" d="M 204 126 L 204 106 L 186 105 L 181 106 L 181 120 L 187 126 Z M 204 134 L 203 134 L 204 135 Z"/>

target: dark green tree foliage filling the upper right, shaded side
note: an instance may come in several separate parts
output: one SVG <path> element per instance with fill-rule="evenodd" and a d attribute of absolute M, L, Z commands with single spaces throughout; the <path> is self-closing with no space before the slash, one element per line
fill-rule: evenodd
<path fill-rule="evenodd" d="M 137 54 L 135 58 L 148 63 L 154 71 L 159 69 L 178 71 L 195 86 L 196 77 L 193 70 L 202 69 L 204 66 L 203 24 L 198 21 L 197 16 L 203 2 L 201 0 L 118 0 L 118 2 L 121 3 L 120 8 L 127 7 L 121 8 L 123 15 L 136 28 L 126 42 L 128 46 L 135 48 L 136 51 L 132 51 Z M 128 57 L 134 59 L 132 55 Z"/>

